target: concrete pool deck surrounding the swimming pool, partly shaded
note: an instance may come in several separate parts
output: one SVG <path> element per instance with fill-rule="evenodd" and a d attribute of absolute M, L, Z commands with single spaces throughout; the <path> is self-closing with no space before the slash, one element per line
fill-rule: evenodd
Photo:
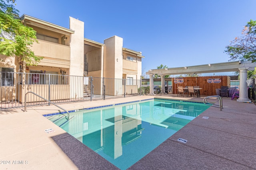
<path fill-rule="evenodd" d="M 154 97 L 203 100 L 203 97 L 180 98 L 176 95 L 135 96 L 60 106 L 74 110 Z M 222 111 L 210 107 L 128 169 L 256 169 L 256 106 L 226 97 L 222 100 Z M 42 116 L 58 112 L 58 107 L 23 110 L 0 111 L 0 169 L 118 169 Z M 202 119 L 203 116 L 209 118 Z M 50 128 L 54 132 L 46 133 Z M 187 142 L 177 141 L 179 138 Z"/>

